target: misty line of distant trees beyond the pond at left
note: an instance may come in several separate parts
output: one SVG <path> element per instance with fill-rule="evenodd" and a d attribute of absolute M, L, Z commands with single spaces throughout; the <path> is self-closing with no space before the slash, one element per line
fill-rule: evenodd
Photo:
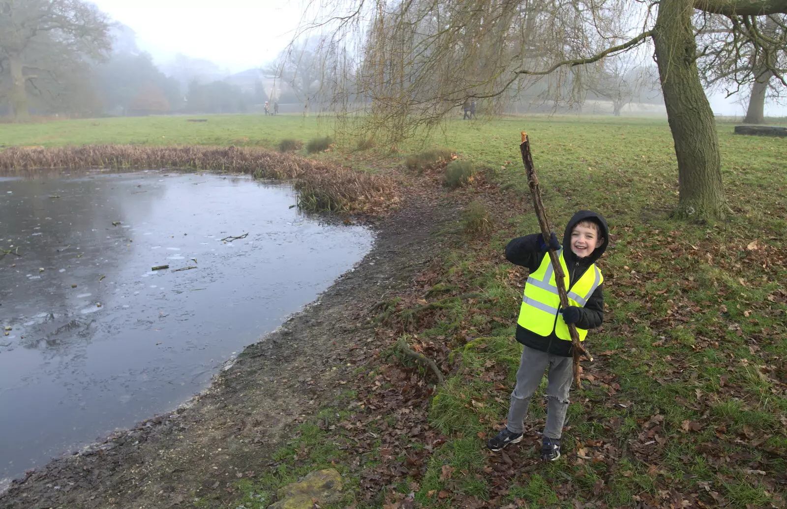
<path fill-rule="evenodd" d="M 249 112 L 262 83 L 240 87 L 210 61 L 158 68 L 131 28 L 82 0 L 0 0 L 0 116 Z"/>

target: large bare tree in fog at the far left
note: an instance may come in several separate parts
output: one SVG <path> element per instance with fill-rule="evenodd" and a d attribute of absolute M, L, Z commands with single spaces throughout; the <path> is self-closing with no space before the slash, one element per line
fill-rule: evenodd
<path fill-rule="evenodd" d="M 109 49 L 109 22 L 81 0 L 0 1 L 0 72 L 14 119 L 29 120 L 28 89 L 46 74 L 84 65 Z M 38 89 L 40 90 L 40 89 Z"/>

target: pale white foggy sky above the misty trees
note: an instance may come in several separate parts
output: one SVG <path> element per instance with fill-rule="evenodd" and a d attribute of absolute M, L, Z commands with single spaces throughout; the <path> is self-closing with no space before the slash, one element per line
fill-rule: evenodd
<path fill-rule="evenodd" d="M 299 0 L 93 0 L 133 29 L 142 50 L 157 64 L 176 53 L 206 58 L 229 72 L 245 71 L 275 59 L 290 42 L 303 16 Z M 743 98 L 748 98 L 745 90 Z M 745 112 L 738 95 L 709 96 L 717 115 Z M 787 116 L 787 106 L 766 102 L 766 116 Z"/>

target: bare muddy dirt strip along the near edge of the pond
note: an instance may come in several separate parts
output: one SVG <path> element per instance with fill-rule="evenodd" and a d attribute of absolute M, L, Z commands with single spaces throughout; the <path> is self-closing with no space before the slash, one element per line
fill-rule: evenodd
<path fill-rule="evenodd" d="M 356 270 L 249 345 L 187 408 L 28 472 L 0 509 L 185 507 L 196 497 L 221 507 L 234 481 L 264 468 L 292 426 L 341 392 L 348 360 L 373 347 L 371 305 L 409 285 L 439 252 L 434 233 L 457 214 L 434 194 L 408 198 L 379 224 Z"/>

